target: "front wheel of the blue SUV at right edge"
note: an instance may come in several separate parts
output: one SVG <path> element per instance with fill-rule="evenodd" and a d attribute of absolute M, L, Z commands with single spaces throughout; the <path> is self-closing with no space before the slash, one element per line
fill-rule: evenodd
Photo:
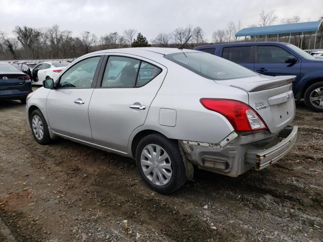
<path fill-rule="evenodd" d="M 314 83 L 306 89 L 304 102 L 308 109 L 323 112 L 323 82 Z"/>

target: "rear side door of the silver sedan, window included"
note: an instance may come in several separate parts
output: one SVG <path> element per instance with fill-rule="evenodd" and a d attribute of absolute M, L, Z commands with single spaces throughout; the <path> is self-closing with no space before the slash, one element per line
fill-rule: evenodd
<path fill-rule="evenodd" d="M 126 153 L 129 137 L 144 124 L 167 69 L 148 59 L 123 54 L 110 55 L 101 70 L 89 106 L 93 141 Z"/>

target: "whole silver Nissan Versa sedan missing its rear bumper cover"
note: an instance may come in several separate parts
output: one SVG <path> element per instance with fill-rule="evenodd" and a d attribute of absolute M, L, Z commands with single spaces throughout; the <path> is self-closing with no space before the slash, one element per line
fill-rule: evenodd
<path fill-rule="evenodd" d="M 235 177 L 284 156 L 297 135 L 294 78 L 195 50 L 109 49 L 45 80 L 26 111 L 39 144 L 63 137 L 134 158 L 166 194 L 197 167 Z"/>

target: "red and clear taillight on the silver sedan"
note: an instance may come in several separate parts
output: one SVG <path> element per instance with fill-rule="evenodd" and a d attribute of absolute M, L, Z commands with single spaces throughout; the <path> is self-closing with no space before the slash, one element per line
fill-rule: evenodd
<path fill-rule="evenodd" d="M 224 115 L 236 131 L 267 129 L 262 118 L 247 104 L 231 99 L 201 98 L 202 105 Z"/>

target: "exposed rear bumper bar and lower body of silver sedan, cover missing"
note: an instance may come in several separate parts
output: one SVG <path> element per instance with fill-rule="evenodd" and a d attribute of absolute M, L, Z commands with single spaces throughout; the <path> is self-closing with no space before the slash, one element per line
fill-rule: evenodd
<path fill-rule="evenodd" d="M 236 177 L 280 160 L 294 146 L 297 129 L 288 126 L 275 134 L 232 132 L 219 144 L 180 140 L 179 145 L 185 158 L 199 168 Z"/>

